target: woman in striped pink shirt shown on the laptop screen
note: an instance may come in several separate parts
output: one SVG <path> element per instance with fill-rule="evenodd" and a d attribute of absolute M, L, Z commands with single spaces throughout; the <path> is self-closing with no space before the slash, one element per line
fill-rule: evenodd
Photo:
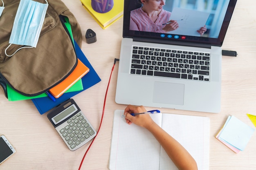
<path fill-rule="evenodd" d="M 130 30 L 156 33 L 168 33 L 179 28 L 175 20 L 169 20 L 171 12 L 163 9 L 165 0 L 138 0 L 142 7 L 130 11 Z M 198 30 L 200 35 L 206 27 Z"/>

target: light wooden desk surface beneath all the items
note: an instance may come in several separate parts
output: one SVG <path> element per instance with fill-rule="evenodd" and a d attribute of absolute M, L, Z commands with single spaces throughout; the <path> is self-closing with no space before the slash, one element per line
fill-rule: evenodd
<path fill-rule="evenodd" d="M 122 39 L 121 18 L 103 30 L 83 8 L 80 0 L 63 0 L 78 20 L 83 34 L 82 51 L 102 81 L 74 96 L 83 113 L 99 129 L 106 87 L 114 58 L 119 58 Z M 215 138 L 228 115 L 235 115 L 253 127 L 246 113 L 256 115 L 256 15 L 255 0 L 238 0 L 222 49 L 237 51 L 237 57 L 222 57 L 221 112 L 199 113 L 161 109 L 163 113 L 207 116 L 210 129 L 210 170 L 255 170 L 256 133 L 247 147 L 234 153 Z M 97 42 L 87 44 L 85 32 L 92 29 Z M 111 49 L 111 50 L 110 50 Z M 115 103 L 118 63 L 112 74 L 103 124 L 97 139 L 83 162 L 83 170 L 107 170 L 110 154 L 112 117 Z M 151 108 L 147 108 L 151 109 Z M 89 144 L 76 151 L 65 146 L 56 130 L 40 115 L 31 100 L 9 102 L 0 91 L 0 133 L 6 135 L 17 152 L 0 165 L 0 170 L 77 170 Z"/>

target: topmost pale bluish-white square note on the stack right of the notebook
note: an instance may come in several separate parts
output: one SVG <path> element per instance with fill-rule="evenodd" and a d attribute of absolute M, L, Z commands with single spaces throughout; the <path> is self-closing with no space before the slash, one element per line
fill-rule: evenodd
<path fill-rule="evenodd" d="M 223 127 L 219 139 L 239 150 L 244 150 L 254 131 L 254 128 L 248 126 L 243 121 L 240 121 L 235 116 L 231 116 L 226 126 Z"/>

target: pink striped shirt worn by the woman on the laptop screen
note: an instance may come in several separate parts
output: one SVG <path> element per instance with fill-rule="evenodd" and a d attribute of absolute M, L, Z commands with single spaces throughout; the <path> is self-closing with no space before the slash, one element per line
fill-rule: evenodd
<path fill-rule="evenodd" d="M 168 22 L 170 16 L 171 12 L 162 9 L 157 20 L 153 22 L 147 13 L 142 10 L 142 7 L 132 10 L 130 12 L 130 30 L 165 33 L 164 30 L 162 30 L 165 25 L 162 24 Z"/>

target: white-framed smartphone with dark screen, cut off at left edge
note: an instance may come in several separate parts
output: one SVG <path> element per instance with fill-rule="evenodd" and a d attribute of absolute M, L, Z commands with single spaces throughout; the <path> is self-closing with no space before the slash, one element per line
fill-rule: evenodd
<path fill-rule="evenodd" d="M 16 152 L 4 135 L 0 136 L 0 164 Z"/>

